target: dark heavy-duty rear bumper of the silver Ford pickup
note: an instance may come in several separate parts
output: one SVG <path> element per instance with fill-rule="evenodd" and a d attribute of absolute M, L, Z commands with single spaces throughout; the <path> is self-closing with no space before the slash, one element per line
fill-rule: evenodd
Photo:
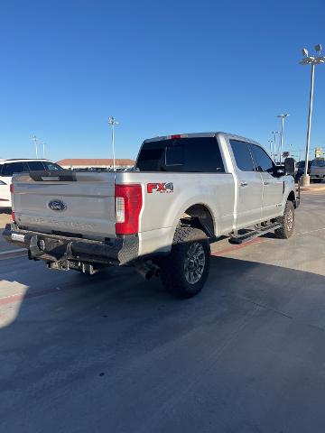
<path fill-rule="evenodd" d="M 7 242 L 28 249 L 31 259 L 45 262 L 76 261 L 123 265 L 132 263 L 139 253 L 137 235 L 117 237 L 104 243 L 31 232 L 21 230 L 15 224 L 7 224 L 3 236 Z"/>

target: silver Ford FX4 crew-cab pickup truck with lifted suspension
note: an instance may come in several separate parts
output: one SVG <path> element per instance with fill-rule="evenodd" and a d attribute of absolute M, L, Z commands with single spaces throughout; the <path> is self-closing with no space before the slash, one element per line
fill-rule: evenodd
<path fill-rule="evenodd" d="M 189 298 L 207 280 L 209 243 L 221 235 L 232 243 L 292 235 L 300 201 L 293 171 L 292 159 L 277 167 L 237 135 L 157 137 L 144 141 L 134 171 L 14 175 L 14 222 L 4 236 L 51 269 L 133 265 Z"/>

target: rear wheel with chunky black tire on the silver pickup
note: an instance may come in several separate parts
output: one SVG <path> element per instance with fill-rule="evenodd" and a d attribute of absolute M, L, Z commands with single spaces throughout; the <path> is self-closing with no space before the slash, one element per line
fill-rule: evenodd
<path fill-rule="evenodd" d="M 209 255 L 209 241 L 202 230 L 194 227 L 177 228 L 172 252 L 161 263 L 165 289 L 177 298 L 197 295 L 209 276 Z"/>

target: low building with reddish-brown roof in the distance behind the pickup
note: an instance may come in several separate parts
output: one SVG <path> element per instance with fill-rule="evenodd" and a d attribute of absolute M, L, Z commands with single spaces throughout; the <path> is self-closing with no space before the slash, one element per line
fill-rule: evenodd
<path fill-rule="evenodd" d="M 113 170 L 113 160 L 111 159 L 67 159 L 57 162 L 63 169 L 70 170 Z M 125 170 L 134 167 L 135 161 L 116 158 L 116 169 Z"/>

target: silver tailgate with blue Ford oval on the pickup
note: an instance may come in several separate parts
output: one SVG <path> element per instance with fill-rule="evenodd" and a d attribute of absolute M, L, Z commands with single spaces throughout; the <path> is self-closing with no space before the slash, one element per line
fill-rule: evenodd
<path fill-rule="evenodd" d="M 18 226 L 88 239 L 116 237 L 115 173 L 32 171 L 14 175 L 13 185 Z"/>

